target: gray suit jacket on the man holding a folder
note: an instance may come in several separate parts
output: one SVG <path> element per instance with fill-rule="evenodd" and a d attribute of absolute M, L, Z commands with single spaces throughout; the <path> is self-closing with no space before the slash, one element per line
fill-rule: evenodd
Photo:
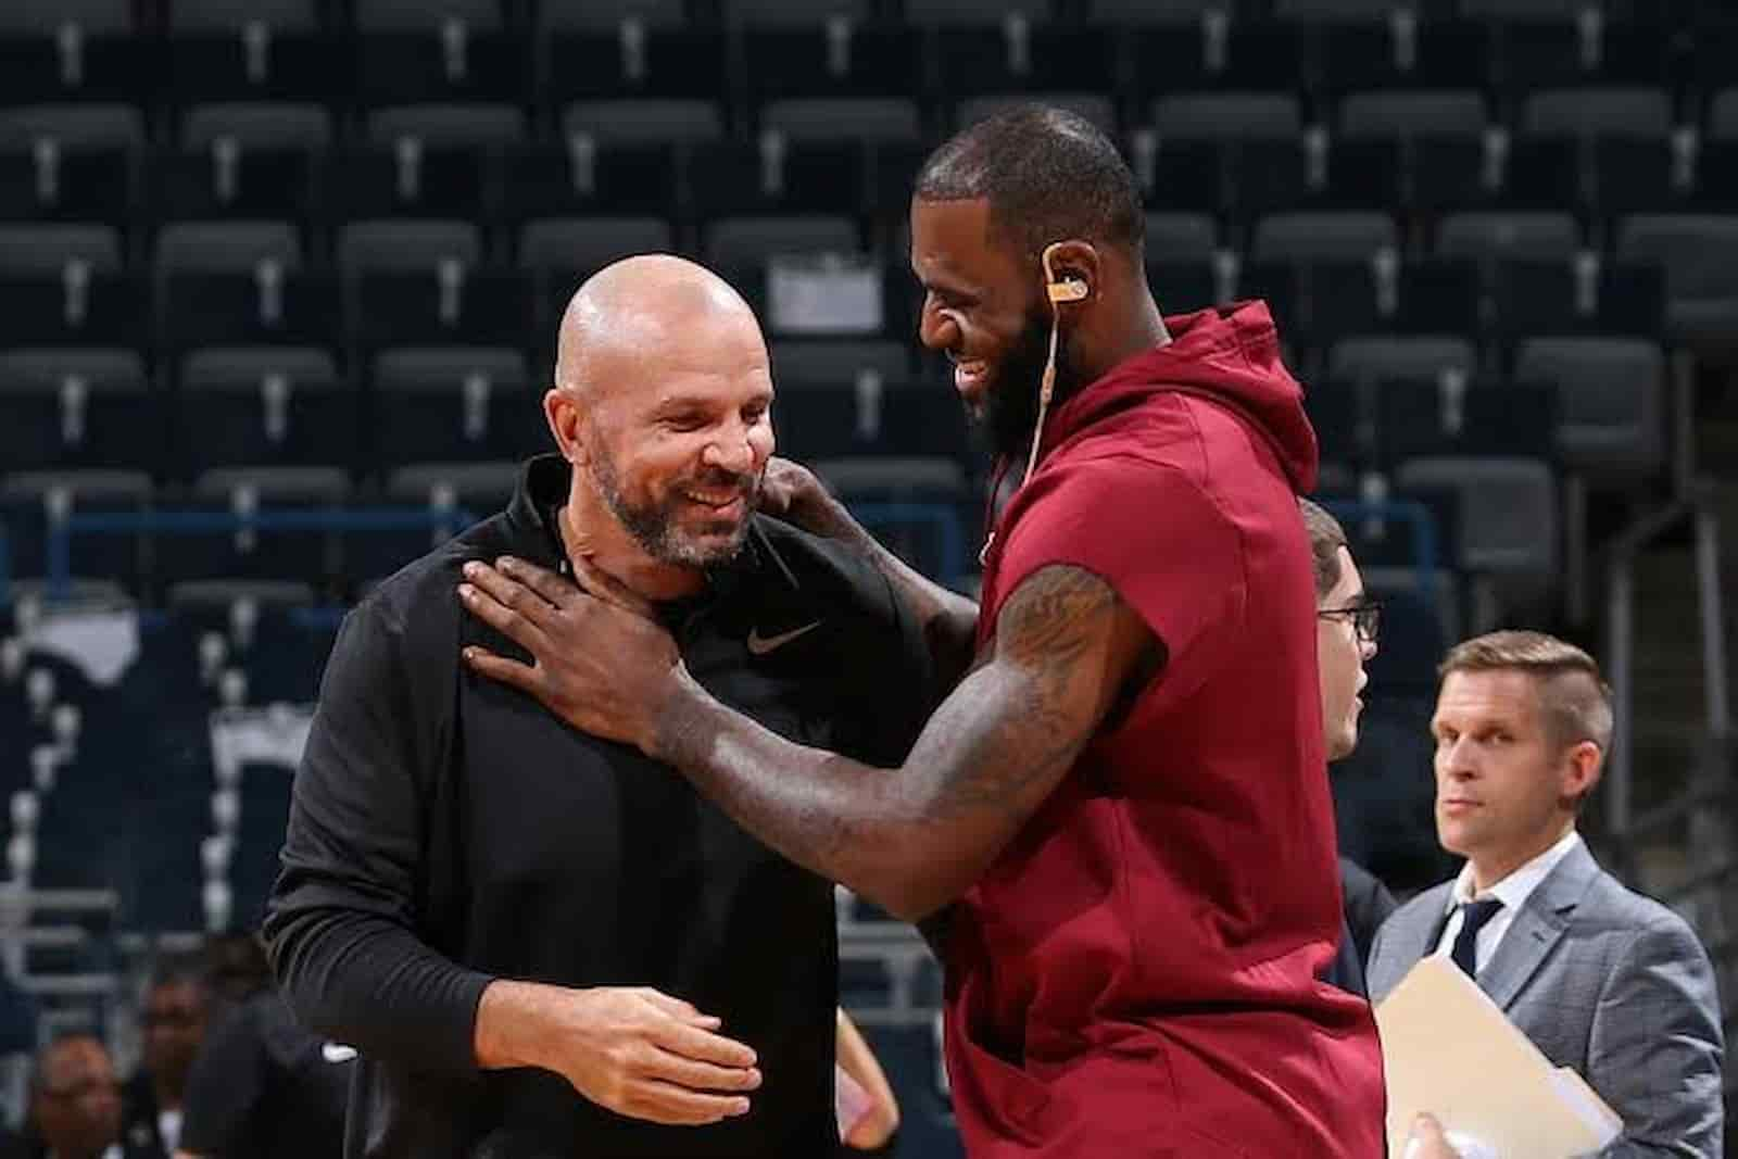
<path fill-rule="evenodd" d="M 1436 949 L 1453 888 L 1425 890 L 1376 933 L 1373 1001 Z M 1528 897 L 1477 982 L 1623 1117 L 1602 1157 L 1719 1159 L 1724 1044 L 1708 954 L 1682 917 L 1625 890 L 1585 844 Z"/>

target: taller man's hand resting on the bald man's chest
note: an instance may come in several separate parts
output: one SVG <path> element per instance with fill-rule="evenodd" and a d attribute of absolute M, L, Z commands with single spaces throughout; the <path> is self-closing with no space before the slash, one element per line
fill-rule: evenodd
<path fill-rule="evenodd" d="M 478 646 L 466 648 L 464 660 L 580 732 L 650 749 L 664 704 L 692 683 L 676 641 L 645 599 L 589 560 L 575 558 L 574 570 L 584 591 L 511 556 L 495 566 L 466 563 L 466 610 L 530 652 L 534 664 Z"/>

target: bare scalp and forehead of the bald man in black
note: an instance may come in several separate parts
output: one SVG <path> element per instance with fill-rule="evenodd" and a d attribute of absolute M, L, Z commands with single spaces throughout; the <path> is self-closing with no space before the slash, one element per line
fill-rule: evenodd
<path fill-rule="evenodd" d="M 711 269 L 671 254 L 605 266 L 561 315 L 554 384 L 593 400 L 600 386 L 650 384 L 669 363 L 766 346 L 754 311 Z"/>

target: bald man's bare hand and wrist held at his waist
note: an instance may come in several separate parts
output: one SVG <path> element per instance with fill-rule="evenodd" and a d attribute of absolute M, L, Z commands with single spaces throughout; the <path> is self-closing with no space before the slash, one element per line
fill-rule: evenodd
<path fill-rule="evenodd" d="M 720 1020 L 650 987 L 492 982 L 476 1011 L 485 1069 L 541 1067 L 615 1114 L 702 1126 L 749 1110 L 754 1051 Z"/>

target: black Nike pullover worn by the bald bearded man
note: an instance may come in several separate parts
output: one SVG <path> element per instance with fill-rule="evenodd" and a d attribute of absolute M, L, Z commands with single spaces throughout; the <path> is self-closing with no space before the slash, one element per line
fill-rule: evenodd
<path fill-rule="evenodd" d="M 462 613 L 459 568 L 565 565 L 567 492 L 568 464 L 534 459 L 506 513 L 381 584 L 332 650 L 266 940 L 299 1020 L 362 1051 L 344 1154 L 829 1156 L 833 886 L 674 770 L 459 659 L 471 643 L 528 659 Z M 700 685 L 793 740 L 892 765 L 932 707 L 921 632 L 886 580 L 775 520 L 754 516 L 739 561 L 662 612 Z M 497 977 L 692 1001 L 760 1055 L 753 1110 L 667 1128 L 551 1072 L 480 1070 L 476 1004 Z"/>

